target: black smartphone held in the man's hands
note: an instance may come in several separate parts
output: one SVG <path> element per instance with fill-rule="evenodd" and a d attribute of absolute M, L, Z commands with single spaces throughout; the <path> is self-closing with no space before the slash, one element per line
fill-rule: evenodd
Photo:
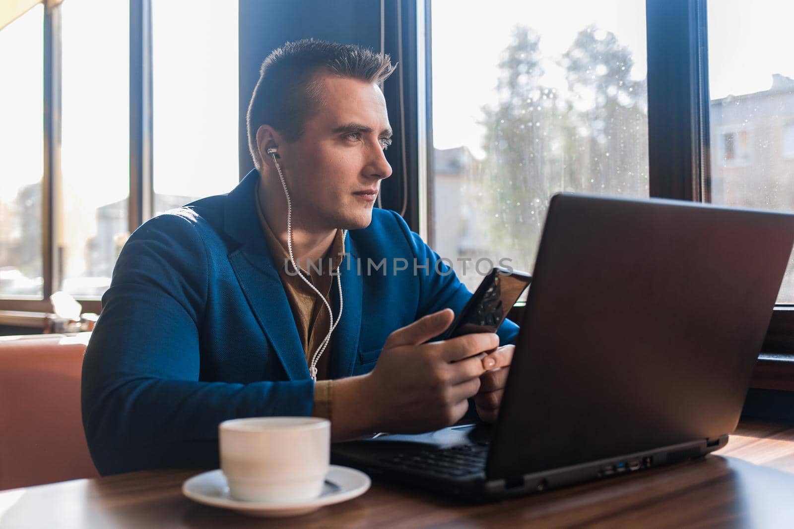
<path fill-rule="evenodd" d="M 532 276 L 526 272 L 495 266 L 440 339 L 496 332 L 530 282 Z"/>

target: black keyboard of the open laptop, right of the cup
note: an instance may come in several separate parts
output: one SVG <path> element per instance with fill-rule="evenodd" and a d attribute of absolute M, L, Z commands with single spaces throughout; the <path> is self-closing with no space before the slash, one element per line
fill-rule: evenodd
<path fill-rule="evenodd" d="M 440 476 L 464 477 L 485 471 L 488 443 L 473 443 L 449 448 L 430 448 L 397 454 L 380 461 L 402 469 Z"/>

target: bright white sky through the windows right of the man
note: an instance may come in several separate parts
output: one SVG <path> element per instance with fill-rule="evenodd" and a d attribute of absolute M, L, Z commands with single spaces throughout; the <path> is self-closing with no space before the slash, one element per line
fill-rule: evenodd
<path fill-rule="evenodd" d="M 646 76 L 644 0 L 434 0 L 433 126 L 436 148 L 466 145 L 482 156 L 480 107 L 495 102 L 497 63 L 512 29 L 526 25 L 541 36 L 544 83 L 565 91 L 556 61 L 587 25 L 615 33 L 634 53 L 632 77 Z M 487 6 L 487 8 L 485 7 Z M 708 4 L 711 97 L 767 90 L 772 74 L 794 77 L 791 21 L 794 2 L 713 0 Z M 476 72 L 476 73 L 473 73 Z"/>

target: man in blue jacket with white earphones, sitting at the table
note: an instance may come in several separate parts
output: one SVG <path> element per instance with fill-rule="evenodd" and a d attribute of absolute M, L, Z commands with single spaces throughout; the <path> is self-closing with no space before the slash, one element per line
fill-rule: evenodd
<path fill-rule="evenodd" d="M 518 328 L 426 343 L 471 293 L 372 209 L 393 69 L 355 46 L 285 44 L 249 105 L 256 170 L 130 237 L 83 364 L 101 473 L 218 466 L 218 423 L 236 417 L 324 416 L 334 441 L 445 427 L 472 397 L 495 419 L 513 348 L 499 342 Z"/>

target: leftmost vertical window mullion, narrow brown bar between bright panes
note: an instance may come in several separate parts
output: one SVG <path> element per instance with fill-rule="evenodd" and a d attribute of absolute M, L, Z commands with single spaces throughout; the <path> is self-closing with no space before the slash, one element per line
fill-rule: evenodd
<path fill-rule="evenodd" d="M 60 259 L 56 252 L 55 225 L 60 193 L 61 140 L 61 17 L 60 6 L 44 5 L 44 172 L 41 175 L 41 272 L 43 299 L 60 286 Z M 63 227 L 61 227 L 63 228 Z"/>

